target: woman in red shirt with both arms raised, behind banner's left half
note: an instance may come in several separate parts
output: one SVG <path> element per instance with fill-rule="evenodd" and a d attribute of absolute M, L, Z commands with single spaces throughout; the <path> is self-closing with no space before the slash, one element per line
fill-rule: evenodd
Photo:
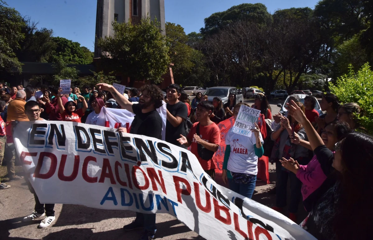
<path fill-rule="evenodd" d="M 62 88 L 60 88 L 58 92 L 59 94 L 57 95 L 57 102 L 60 107 L 62 121 L 81 123 L 81 118 L 84 115 L 85 110 L 87 110 L 88 108 L 87 102 L 85 102 L 84 97 L 78 94 L 77 97 L 82 100 L 83 107 L 81 109 L 77 109 L 76 103 L 74 101 L 69 101 L 65 103 L 65 106 L 63 106 L 61 99 Z"/>

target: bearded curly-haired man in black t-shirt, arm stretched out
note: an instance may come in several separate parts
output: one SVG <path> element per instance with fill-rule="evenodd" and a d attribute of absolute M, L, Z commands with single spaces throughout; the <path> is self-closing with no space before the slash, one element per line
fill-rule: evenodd
<path fill-rule="evenodd" d="M 154 84 L 145 85 L 141 88 L 139 103 L 129 102 L 123 94 L 120 94 L 112 85 L 106 83 L 97 84 L 101 90 L 110 91 L 117 103 L 129 112 L 135 113 L 134 121 L 131 124 L 131 134 L 145 135 L 162 139 L 162 118 L 157 112 L 157 108 L 163 105 L 163 95 L 161 90 Z M 121 128 L 120 132 L 126 132 Z M 125 231 L 131 231 L 138 228 L 145 228 L 144 234 L 140 239 L 154 239 L 157 231 L 155 213 L 136 212 L 136 219 L 123 227 Z"/>

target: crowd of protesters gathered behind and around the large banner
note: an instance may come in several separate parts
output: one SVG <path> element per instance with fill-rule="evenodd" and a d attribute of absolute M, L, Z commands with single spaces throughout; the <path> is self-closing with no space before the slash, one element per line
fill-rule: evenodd
<path fill-rule="evenodd" d="M 223 105 L 222 99 L 212 102 L 201 92 L 190 101 L 177 84 L 171 84 L 163 96 L 156 85 L 132 88 L 124 94 L 112 85 L 70 88 L 70 94 L 62 94 L 56 86 L 42 85 L 35 89 L 22 85 L 4 88 L 0 83 L 0 164 L 7 162 L 11 180 L 23 177 L 15 175 L 17 160 L 12 139 L 7 138 L 6 127 L 11 121 L 70 121 L 97 125 L 103 107 L 121 108 L 135 114 L 131 134 L 162 139 L 162 118 L 157 108 L 166 102 L 165 140 L 182 148 L 188 148 L 197 157 L 203 170 L 215 179 L 217 169 L 214 155 L 221 139 L 219 122 L 236 118 L 241 105 L 234 94 Z M 315 110 L 316 99 L 307 96 L 304 104 L 299 96 L 291 95 L 285 114 L 272 116 L 266 96 L 258 94 L 251 107 L 260 110 L 258 124 L 248 136 L 232 133 L 225 137 L 225 156 L 222 180 L 230 190 L 251 199 L 257 181 L 258 158 L 269 151 L 269 160 L 276 165 L 276 194 L 274 210 L 282 212 L 287 206 L 289 218 L 297 221 L 299 202 L 308 212 L 301 226 L 317 239 L 373 239 L 369 227 L 372 220 L 373 138 L 364 133 L 358 116 L 363 109 L 357 103 L 340 105 L 338 97 L 324 94 L 320 107 Z M 138 104 L 134 104 L 138 102 Z M 272 121 L 271 119 L 274 119 Z M 270 131 L 262 131 L 264 119 Z M 126 133 L 126 128 L 119 128 Z M 263 140 L 263 135 L 268 137 Z M 10 137 L 11 138 L 11 137 Z M 269 150 L 268 150 L 269 149 Z M 288 179 L 290 193 L 287 196 Z M 44 219 L 44 228 L 54 221 L 54 204 L 42 204 L 35 197 L 35 211 L 23 221 Z M 1 183 L 0 189 L 10 186 Z M 287 200 L 290 199 L 289 202 Z M 301 219 L 300 219 L 301 220 Z M 351 221 L 352 220 L 352 221 Z M 348 223 L 348 224 L 347 224 Z M 153 239 L 156 233 L 156 214 L 136 213 L 135 220 L 124 230 L 144 228 L 141 239 Z"/>

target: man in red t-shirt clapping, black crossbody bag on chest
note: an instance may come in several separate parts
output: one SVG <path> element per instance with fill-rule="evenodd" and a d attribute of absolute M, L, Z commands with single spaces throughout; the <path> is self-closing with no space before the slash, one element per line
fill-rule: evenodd
<path fill-rule="evenodd" d="M 191 146 L 191 152 L 197 157 L 202 169 L 214 180 L 216 165 L 213 158 L 219 149 L 222 134 L 210 119 L 213 111 L 214 106 L 209 101 L 198 103 L 195 112 L 198 122 L 193 124 L 186 137 L 180 134 L 181 138 L 177 141 L 186 147 Z"/>

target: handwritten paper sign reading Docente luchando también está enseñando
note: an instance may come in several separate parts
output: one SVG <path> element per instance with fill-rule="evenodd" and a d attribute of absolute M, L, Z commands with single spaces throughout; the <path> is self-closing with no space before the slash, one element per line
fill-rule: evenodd
<path fill-rule="evenodd" d="M 260 110 L 241 105 L 236 121 L 232 127 L 232 133 L 250 136 L 251 130 L 255 128 L 259 116 Z"/>

